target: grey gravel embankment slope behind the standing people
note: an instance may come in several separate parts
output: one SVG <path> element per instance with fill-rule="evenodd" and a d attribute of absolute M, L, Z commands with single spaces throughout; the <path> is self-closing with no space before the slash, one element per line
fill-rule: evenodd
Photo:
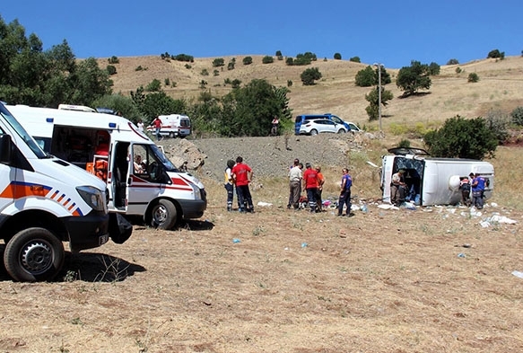
<path fill-rule="evenodd" d="M 161 140 L 166 154 L 179 166 L 188 160 L 189 171 L 199 166 L 208 177 L 222 180 L 228 159 L 243 157 L 257 177 L 286 177 L 294 158 L 313 165 L 341 166 L 347 163 L 351 150 L 361 150 L 361 136 L 353 134 L 322 134 L 291 137 L 222 137 L 202 139 Z M 196 147 L 196 148 L 195 148 Z M 195 153 L 195 149 L 197 152 Z M 196 155 L 195 155 L 196 154 Z M 199 154 L 199 155 L 198 155 Z M 183 160 L 183 162 L 181 162 Z M 177 163 L 178 161 L 178 163 Z M 196 161 L 196 163 L 195 163 Z M 180 163 L 181 162 L 181 163 Z"/>

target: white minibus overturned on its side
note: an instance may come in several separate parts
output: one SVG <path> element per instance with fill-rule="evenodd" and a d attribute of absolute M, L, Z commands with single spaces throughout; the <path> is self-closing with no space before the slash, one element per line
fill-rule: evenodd
<path fill-rule="evenodd" d="M 431 158 L 420 148 L 391 148 L 381 157 L 383 200 L 390 202 L 392 174 L 405 170 L 407 195 L 416 205 L 455 205 L 461 200 L 459 178 L 471 172 L 485 179 L 484 197 L 492 197 L 494 167 L 491 163 L 472 159 Z M 408 198 L 407 198 L 408 199 Z"/>

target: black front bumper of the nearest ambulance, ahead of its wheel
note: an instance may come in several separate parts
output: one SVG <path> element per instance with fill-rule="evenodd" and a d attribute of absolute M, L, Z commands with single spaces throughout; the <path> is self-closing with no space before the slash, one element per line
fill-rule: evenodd
<path fill-rule="evenodd" d="M 92 211 L 86 216 L 66 217 L 64 224 L 71 252 L 97 248 L 109 241 L 109 214 Z"/>

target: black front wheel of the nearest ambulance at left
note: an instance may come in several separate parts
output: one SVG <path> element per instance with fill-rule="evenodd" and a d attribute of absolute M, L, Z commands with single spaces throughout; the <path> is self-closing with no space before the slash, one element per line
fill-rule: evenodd
<path fill-rule="evenodd" d="M 64 245 L 44 228 L 28 228 L 5 245 L 7 273 L 19 282 L 51 280 L 64 265 Z"/>

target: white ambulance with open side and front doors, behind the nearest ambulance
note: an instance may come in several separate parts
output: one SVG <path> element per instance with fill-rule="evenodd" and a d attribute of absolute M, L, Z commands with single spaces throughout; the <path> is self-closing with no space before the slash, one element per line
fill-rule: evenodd
<path fill-rule="evenodd" d="M 180 172 L 131 121 L 117 115 L 8 106 L 49 154 L 94 173 L 107 183 L 109 211 L 143 216 L 171 229 L 207 207 L 204 185 Z"/>

